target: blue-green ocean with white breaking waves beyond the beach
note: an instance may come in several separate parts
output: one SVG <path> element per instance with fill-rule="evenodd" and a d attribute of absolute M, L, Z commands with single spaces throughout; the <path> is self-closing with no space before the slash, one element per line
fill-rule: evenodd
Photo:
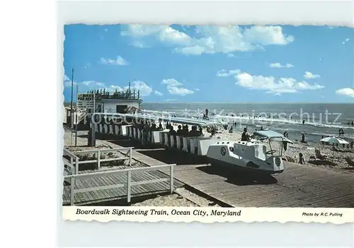
<path fill-rule="evenodd" d="M 141 107 L 175 112 L 181 117 L 202 116 L 208 108 L 211 118 L 230 123 L 236 121 L 237 130 L 247 127 L 253 132 L 263 126 L 263 129 L 281 134 L 287 131 L 289 138 L 294 140 L 300 140 L 303 132 L 307 141 L 318 142 L 322 136 L 338 136 L 338 129 L 343 129 L 343 138 L 354 140 L 353 103 L 143 102 Z"/>

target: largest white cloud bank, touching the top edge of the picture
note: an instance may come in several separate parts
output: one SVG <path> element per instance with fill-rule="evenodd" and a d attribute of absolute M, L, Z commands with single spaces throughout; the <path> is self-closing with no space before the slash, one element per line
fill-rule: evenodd
<path fill-rule="evenodd" d="M 132 37 L 137 44 L 157 40 L 173 46 L 175 52 L 193 55 L 250 51 L 266 45 L 286 45 L 294 40 L 293 36 L 282 33 L 280 26 L 203 25 L 196 26 L 193 36 L 169 25 L 125 25 L 122 29 L 120 35 Z"/>

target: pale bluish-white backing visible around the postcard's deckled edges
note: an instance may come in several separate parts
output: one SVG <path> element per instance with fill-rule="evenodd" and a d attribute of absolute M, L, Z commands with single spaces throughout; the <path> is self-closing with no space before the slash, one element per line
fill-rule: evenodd
<path fill-rule="evenodd" d="M 312 2 L 59 2 L 58 4 L 58 94 L 62 90 L 63 23 L 181 23 L 181 24 L 313 24 L 353 27 L 350 1 Z M 45 21 L 45 20 L 43 20 Z M 62 98 L 62 95 L 61 95 Z M 62 99 L 57 102 L 58 113 Z M 58 115 L 58 124 L 62 119 Z M 60 129 L 57 129 L 60 131 Z M 58 133 L 58 141 L 62 134 Z M 58 154 L 62 143 L 58 143 Z M 58 163 L 60 158 L 58 156 Z M 57 182 L 61 182 L 57 167 Z M 57 189 L 58 203 L 61 187 Z M 209 246 L 323 246 L 351 247 L 353 224 L 316 223 L 85 223 L 62 220 L 57 215 L 60 245 L 209 245 Z M 211 229 L 212 228 L 212 229 Z"/>

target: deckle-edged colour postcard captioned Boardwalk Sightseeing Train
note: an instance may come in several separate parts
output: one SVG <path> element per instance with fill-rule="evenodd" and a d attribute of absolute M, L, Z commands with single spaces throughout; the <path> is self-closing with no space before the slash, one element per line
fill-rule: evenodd
<path fill-rule="evenodd" d="M 354 223 L 353 28 L 64 37 L 65 220 Z"/>

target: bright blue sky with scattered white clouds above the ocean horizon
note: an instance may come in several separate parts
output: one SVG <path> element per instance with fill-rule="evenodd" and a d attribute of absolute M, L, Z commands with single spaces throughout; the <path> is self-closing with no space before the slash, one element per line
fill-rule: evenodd
<path fill-rule="evenodd" d="M 353 28 L 65 25 L 64 100 L 76 87 L 144 102 L 354 102 Z"/>

